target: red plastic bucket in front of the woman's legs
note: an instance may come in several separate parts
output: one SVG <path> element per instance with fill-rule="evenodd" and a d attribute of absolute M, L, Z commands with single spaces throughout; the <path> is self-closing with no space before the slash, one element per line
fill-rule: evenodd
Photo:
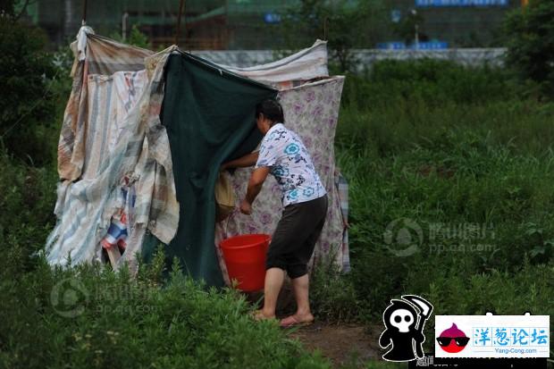
<path fill-rule="evenodd" d="M 265 255 L 270 239 L 266 234 L 245 234 L 222 240 L 220 246 L 229 279 L 239 282 L 238 289 L 247 292 L 264 289 Z"/>

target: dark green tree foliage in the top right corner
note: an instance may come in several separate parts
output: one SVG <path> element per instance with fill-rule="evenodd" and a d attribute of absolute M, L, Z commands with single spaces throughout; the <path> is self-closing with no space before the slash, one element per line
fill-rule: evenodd
<path fill-rule="evenodd" d="M 531 0 L 511 13 L 506 21 L 508 65 L 525 79 L 541 84 L 543 92 L 554 94 L 554 1 Z"/>

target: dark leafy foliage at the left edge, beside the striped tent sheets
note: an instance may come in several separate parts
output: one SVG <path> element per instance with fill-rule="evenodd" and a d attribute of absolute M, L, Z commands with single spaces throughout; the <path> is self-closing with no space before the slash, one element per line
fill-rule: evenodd
<path fill-rule="evenodd" d="M 31 164 L 46 164 L 55 155 L 56 100 L 67 98 L 68 79 L 44 50 L 38 29 L 0 17 L 0 34 L 0 146 Z"/>

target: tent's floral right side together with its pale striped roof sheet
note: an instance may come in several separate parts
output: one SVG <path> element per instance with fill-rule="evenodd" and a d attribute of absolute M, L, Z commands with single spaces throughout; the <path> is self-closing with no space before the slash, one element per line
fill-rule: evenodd
<path fill-rule="evenodd" d="M 344 77 L 329 77 L 326 42 L 317 40 L 314 46 L 277 62 L 242 69 L 228 68 L 280 89 L 278 98 L 285 113 L 285 125 L 302 138 L 329 197 L 325 226 L 312 262 L 318 259 L 323 262 L 334 260 L 343 271 L 348 272 L 348 233 L 345 227 L 348 197 L 344 196 L 348 194 L 343 190 L 343 197 L 340 197 L 340 172 L 335 166 L 334 157 L 334 138 Z M 252 169 L 239 169 L 230 176 L 238 200 L 246 194 L 245 183 L 251 172 Z M 272 234 L 281 218 L 281 211 L 279 186 L 273 180 L 266 180 L 251 215 L 236 211 L 228 220 L 218 223 L 216 244 L 237 234 Z M 220 266 L 225 271 L 221 251 L 219 255 Z M 225 272 L 223 274 L 226 275 Z"/>

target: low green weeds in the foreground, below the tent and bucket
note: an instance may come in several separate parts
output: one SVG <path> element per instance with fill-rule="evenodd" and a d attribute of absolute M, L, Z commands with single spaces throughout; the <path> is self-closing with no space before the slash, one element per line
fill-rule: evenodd
<path fill-rule="evenodd" d="M 13 250 L 8 250 L 8 253 Z M 157 258 L 163 261 L 162 258 Z M 100 265 L 29 273 L 0 261 L 0 363 L 6 368 L 326 368 L 245 298 L 173 268 L 164 286 Z M 9 271 L 9 272 L 7 272 Z"/>

